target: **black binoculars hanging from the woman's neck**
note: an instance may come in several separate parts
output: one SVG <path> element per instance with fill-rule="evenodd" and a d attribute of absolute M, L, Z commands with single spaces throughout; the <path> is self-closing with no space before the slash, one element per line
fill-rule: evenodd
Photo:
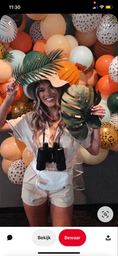
<path fill-rule="evenodd" d="M 48 143 L 44 143 L 42 148 L 38 148 L 36 169 L 42 171 L 45 169 L 45 163 L 56 163 L 58 171 L 66 169 L 65 156 L 63 148 L 58 147 L 56 142 L 53 148 L 48 147 Z"/>

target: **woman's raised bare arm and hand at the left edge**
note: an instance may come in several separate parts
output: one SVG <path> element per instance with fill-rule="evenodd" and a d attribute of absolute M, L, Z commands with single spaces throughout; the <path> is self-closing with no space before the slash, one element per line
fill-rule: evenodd
<path fill-rule="evenodd" d="M 9 81 L 9 83 L 6 84 L 6 89 L 9 90 L 3 103 L 0 105 L 0 132 L 11 132 L 8 124 L 5 121 L 8 108 L 13 103 L 18 90 L 18 85 L 16 85 L 15 80 Z"/>

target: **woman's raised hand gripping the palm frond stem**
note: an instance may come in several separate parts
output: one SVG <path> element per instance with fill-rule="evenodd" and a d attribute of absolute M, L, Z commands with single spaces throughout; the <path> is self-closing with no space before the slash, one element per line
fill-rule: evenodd
<path fill-rule="evenodd" d="M 17 90 L 18 90 L 18 84 L 15 82 L 15 79 L 12 79 L 8 81 L 8 83 L 6 84 L 6 90 L 7 90 L 7 97 L 15 97 L 17 94 Z"/>

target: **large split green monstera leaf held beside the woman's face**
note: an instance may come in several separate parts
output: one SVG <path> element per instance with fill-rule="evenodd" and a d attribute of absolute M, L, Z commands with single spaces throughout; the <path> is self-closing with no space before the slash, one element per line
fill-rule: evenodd
<path fill-rule="evenodd" d="M 91 107 L 101 100 L 100 93 L 94 94 L 93 88 L 84 85 L 72 85 L 62 95 L 61 115 L 67 130 L 78 140 L 85 140 L 88 125 L 92 129 L 100 127 L 96 115 L 91 115 Z"/>

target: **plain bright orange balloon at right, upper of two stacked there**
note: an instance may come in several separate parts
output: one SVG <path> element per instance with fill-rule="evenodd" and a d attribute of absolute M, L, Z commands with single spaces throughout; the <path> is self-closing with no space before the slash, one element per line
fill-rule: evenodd
<path fill-rule="evenodd" d="M 100 56 L 95 63 L 95 70 L 100 76 L 108 74 L 108 68 L 110 62 L 114 59 L 114 56 L 105 54 Z"/>

